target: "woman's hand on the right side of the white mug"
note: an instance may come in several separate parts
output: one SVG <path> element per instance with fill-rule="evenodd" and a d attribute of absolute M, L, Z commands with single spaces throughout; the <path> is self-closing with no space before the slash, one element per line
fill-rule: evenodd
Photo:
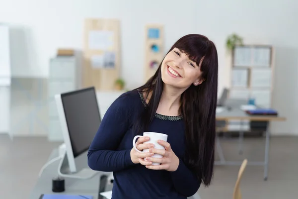
<path fill-rule="evenodd" d="M 158 140 L 158 144 L 164 146 L 164 149 L 155 149 L 150 148 L 149 152 L 153 152 L 156 154 L 160 154 L 163 158 L 152 158 L 147 157 L 146 160 L 149 162 L 157 162 L 160 165 L 147 165 L 146 168 L 153 170 L 166 170 L 166 171 L 176 171 L 179 166 L 179 158 L 175 155 L 173 150 L 171 149 L 171 145 L 163 140 Z"/>

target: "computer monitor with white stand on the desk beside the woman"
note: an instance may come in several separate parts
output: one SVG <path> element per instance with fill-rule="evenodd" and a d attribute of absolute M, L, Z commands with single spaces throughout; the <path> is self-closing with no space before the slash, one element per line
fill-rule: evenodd
<path fill-rule="evenodd" d="M 65 157 L 59 175 L 88 178 L 96 174 L 90 168 L 78 171 L 75 158 L 89 149 L 101 123 L 94 87 L 55 95 L 65 144 Z M 68 174 L 63 173 L 68 166 Z"/>

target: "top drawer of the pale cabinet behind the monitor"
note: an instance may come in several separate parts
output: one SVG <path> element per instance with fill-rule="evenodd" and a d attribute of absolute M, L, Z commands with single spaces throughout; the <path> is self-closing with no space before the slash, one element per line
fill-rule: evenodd
<path fill-rule="evenodd" d="M 75 79 L 75 62 L 71 60 L 50 61 L 50 79 Z"/>

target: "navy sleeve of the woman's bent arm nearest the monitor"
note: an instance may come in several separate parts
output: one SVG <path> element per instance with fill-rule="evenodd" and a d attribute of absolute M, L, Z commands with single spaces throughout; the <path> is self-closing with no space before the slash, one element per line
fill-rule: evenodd
<path fill-rule="evenodd" d="M 121 96 L 106 111 L 87 154 L 92 170 L 115 172 L 134 165 L 131 150 L 117 151 L 128 130 L 129 104 L 128 97 Z"/>

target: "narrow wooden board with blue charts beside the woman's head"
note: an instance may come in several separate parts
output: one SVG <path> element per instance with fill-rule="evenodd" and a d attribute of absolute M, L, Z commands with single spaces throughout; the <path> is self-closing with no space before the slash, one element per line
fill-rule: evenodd
<path fill-rule="evenodd" d="M 145 82 L 154 75 L 164 57 L 164 30 L 161 24 L 145 28 Z"/>

